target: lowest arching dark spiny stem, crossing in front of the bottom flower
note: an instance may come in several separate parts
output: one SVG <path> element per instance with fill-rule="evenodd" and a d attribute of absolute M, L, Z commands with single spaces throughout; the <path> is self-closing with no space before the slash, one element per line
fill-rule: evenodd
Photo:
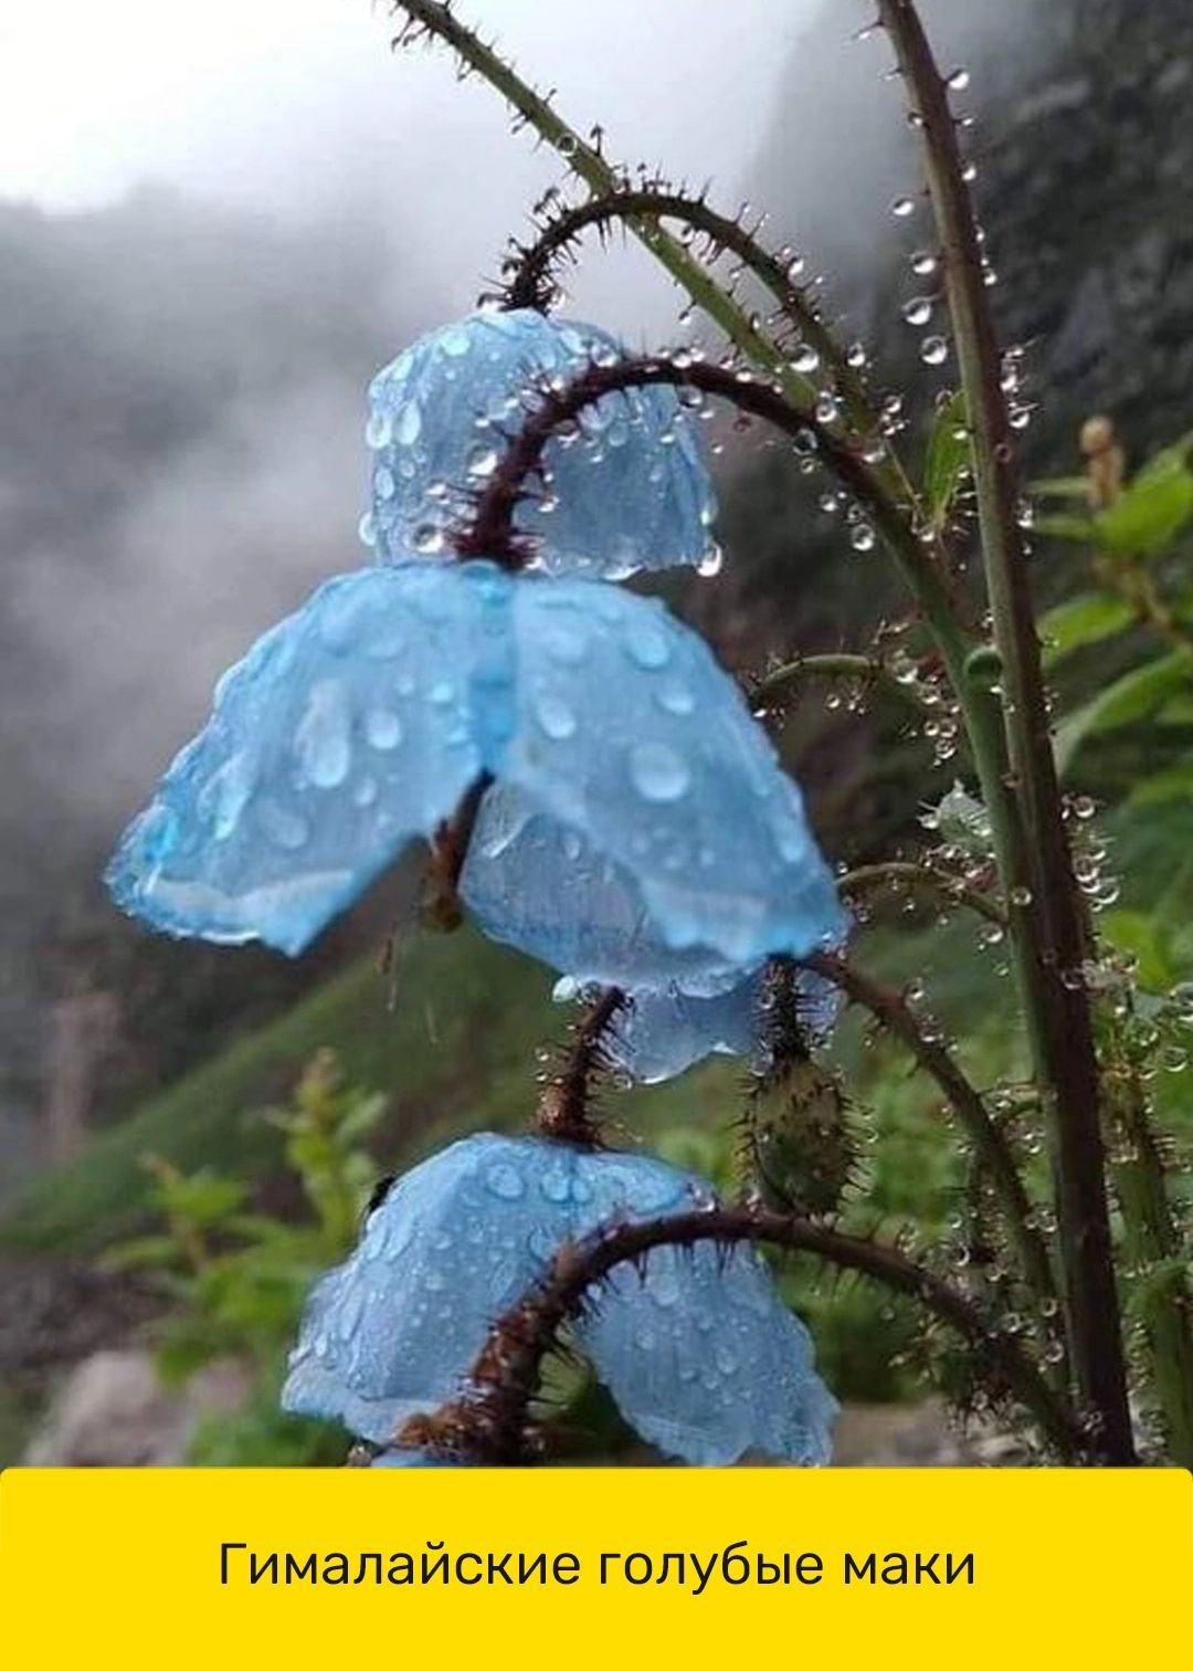
<path fill-rule="evenodd" d="M 581 1242 L 560 1248 L 541 1282 L 490 1330 L 470 1374 L 470 1389 L 433 1415 L 406 1422 L 396 1435 L 398 1444 L 439 1449 L 475 1462 L 525 1460 L 530 1404 L 538 1390 L 543 1360 L 556 1345 L 565 1323 L 581 1313 L 591 1290 L 618 1265 L 643 1262 L 652 1248 L 690 1248 L 700 1242 L 717 1242 L 722 1247 L 765 1242 L 789 1252 L 812 1253 L 917 1300 L 987 1359 L 1008 1392 L 1031 1412 L 1063 1460 L 1084 1459 L 1088 1447 L 1064 1400 L 1048 1385 L 1019 1342 L 987 1323 L 961 1290 L 896 1248 L 757 1205 L 697 1208 L 672 1218 L 605 1225 Z"/>

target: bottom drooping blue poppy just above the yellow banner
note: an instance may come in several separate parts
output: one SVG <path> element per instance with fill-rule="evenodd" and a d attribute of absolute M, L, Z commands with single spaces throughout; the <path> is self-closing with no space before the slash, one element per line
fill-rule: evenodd
<path fill-rule="evenodd" d="M 712 1200 L 702 1178 L 648 1155 L 488 1133 L 453 1143 L 398 1180 L 311 1293 L 282 1404 L 384 1445 L 461 1390 L 488 1327 L 565 1242 Z M 835 1400 L 750 1247 L 655 1248 L 642 1275 L 613 1272 L 575 1337 L 630 1425 L 670 1455 L 829 1459 Z"/>

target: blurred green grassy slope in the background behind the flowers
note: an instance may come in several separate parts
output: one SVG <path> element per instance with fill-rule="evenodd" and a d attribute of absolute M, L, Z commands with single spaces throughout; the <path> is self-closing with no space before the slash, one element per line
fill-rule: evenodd
<path fill-rule="evenodd" d="M 37 1180 L 0 1220 L 0 1245 L 85 1253 L 124 1233 L 145 1201 L 147 1153 L 184 1170 L 267 1175 L 279 1135 L 262 1111 L 324 1046 L 354 1081 L 389 1098 L 384 1165 L 454 1131 L 516 1128 L 533 1108 L 535 1049 L 561 1036 L 566 1016 L 550 1001 L 546 971 L 526 959 L 468 931 L 419 936 L 401 954 L 393 1013 L 373 961 L 353 966 L 105 1131 L 77 1163 Z M 613 1111 L 653 1128 L 700 1121 L 730 1081 L 732 1068 L 688 1074 L 618 1096 Z"/>

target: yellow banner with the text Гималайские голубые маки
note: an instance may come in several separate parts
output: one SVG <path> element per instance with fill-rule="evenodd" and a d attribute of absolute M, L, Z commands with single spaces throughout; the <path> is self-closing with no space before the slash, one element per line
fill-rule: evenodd
<path fill-rule="evenodd" d="M 13 1671 L 1121 1671 L 1191 1599 L 1175 1470 L 0 1475 Z"/>

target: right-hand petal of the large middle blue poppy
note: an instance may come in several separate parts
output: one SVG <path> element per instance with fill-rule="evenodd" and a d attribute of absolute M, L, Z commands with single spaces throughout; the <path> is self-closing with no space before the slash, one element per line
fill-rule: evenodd
<path fill-rule="evenodd" d="M 568 892 L 576 836 L 628 877 L 652 941 L 670 951 L 750 968 L 842 932 L 800 794 L 702 638 L 660 602 L 586 580 L 518 582 L 513 630 L 516 719 L 500 775 L 561 825 L 565 861 L 556 927 L 543 921 L 528 951 L 556 968 L 566 956 L 565 974 L 595 962 L 575 956 L 590 911 L 586 892 Z M 486 931 L 515 944 L 501 902 L 526 874 L 516 849 L 503 856 L 508 881 L 473 872 L 466 884 L 471 904 L 493 902 L 478 909 Z"/>

